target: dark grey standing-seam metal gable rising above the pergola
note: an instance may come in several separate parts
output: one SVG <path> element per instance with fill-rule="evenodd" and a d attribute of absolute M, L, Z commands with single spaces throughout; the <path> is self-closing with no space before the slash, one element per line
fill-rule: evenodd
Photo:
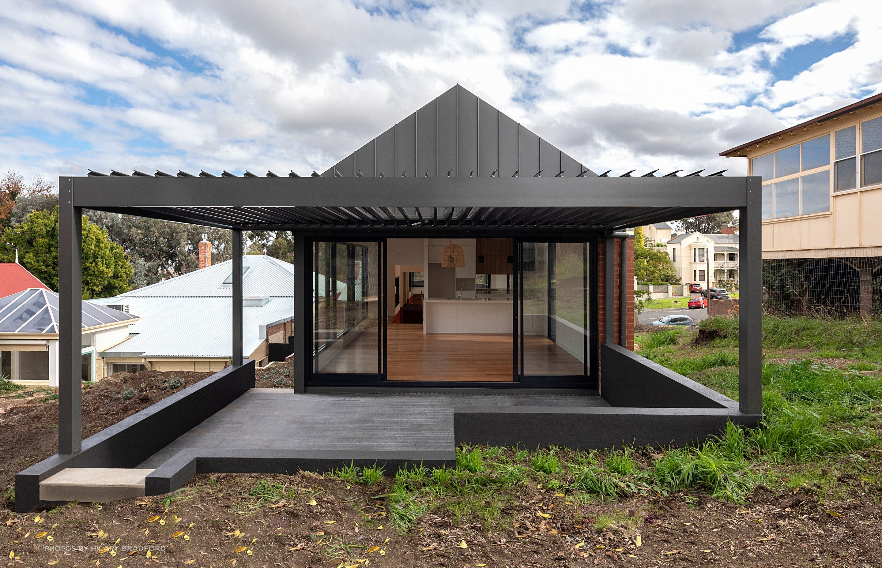
<path fill-rule="evenodd" d="M 455 85 L 322 176 L 596 176 L 499 109 Z"/>

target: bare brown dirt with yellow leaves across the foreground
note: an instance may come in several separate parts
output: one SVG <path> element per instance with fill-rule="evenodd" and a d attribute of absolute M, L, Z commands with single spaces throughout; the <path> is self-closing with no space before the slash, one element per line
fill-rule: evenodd
<path fill-rule="evenodd" d="M 293 497 L 255 497 L 255 485 L 267 479 L 283 484 Z M 198 475 L 175 498 L 68 504 L 24 516 L 0 512 L 0 551 L 12 553 L 9 565 L 57 560 L 62 566 L 875 566 L 882 561 L 878 490 L 866 486 L 851 488 L 836 503 L 818 502 L 811 491 L 759 488 L 748 504 L 685 493 L 580 504 L 528 485 L 519 504 L 506 508 L 505 519 L 482 524 L 458 521 L 452 512 L 430 513 L 403 532 L 386 516 L 386 489 L 385 482 L 364 487 L 304 473 Z"/>

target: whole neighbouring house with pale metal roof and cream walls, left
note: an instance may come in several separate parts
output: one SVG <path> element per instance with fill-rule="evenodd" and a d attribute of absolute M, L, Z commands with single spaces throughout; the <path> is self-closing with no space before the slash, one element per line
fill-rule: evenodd
<path fill-rule="evenodd" d="M 221 370 L 230 363 L 233 261 L 162 280 L 112 298 L 101 306 L 137 313 L 130 337 L 100 352 L 103 372 Z M 200 263 L 202 264 L 202 263 Z M 258 366 L 290 354 L 294 313 L 294 266 L 265 255 L 244 255 L 243 353 Z M 276 352 L 279 352 L 278 354 Z"/>

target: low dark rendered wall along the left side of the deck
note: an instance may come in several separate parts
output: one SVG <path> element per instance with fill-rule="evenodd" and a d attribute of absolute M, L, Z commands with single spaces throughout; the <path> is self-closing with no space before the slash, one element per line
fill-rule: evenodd
<path fill-rule="evenodd" d="M 15 510 L 40 502 L 40 482 L 65 467 L 136 467 L 199 422 L 254 388 L 254 362 L 228 367 L 83 441 L 74 455 L 54 455 L 15 476 Z"/>

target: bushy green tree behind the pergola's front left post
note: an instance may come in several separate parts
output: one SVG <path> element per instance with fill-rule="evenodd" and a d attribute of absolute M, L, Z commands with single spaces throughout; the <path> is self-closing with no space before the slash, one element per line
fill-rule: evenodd
<path fill-rule="evenodd" d="M 82 218 L 83 299 L 122 294 L 129 290 L 132 267 L 123 247 L 107 231 Z M 21 265 L 49 288 L 58 291 L 58 207 L 29 213 L 19 225 L 6 228 L 0 254 L 9 262 L 19 251 Z"/>

